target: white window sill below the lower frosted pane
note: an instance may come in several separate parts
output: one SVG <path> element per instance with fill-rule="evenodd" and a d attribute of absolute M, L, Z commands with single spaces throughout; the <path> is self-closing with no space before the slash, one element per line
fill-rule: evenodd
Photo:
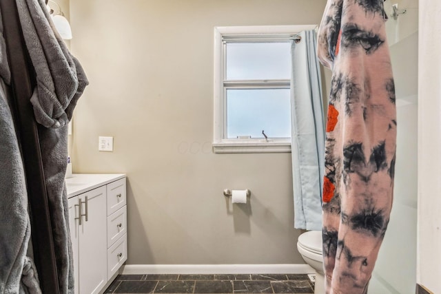
<path fill-rule="evenodd" d="M 291 142 L 287 140 L 225 140 L 225 142 L 213 143 L 215 154 L 229 153 L 290 153 Z"/>

